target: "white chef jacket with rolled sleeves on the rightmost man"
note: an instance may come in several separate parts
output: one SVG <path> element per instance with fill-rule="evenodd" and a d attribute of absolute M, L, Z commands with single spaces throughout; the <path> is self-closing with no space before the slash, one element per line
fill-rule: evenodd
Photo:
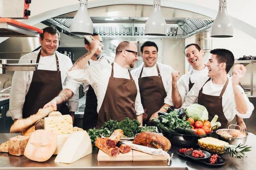
<path fill-rule="evenodd" d="M 183 103 L 182 107 L 190 106 L 191 104 L 197 102 L 199 90 L 208 79 L 209 77 L 204 77 L 196 81 L 196 83 L 194 84 L 190 92 L 188 92 L 187 96 L 185 97 L 185 102 Z M 230 122 L 234 119 L 235 115 L 238 115 L 240 118 L 244 118 L 244 119 L 250 118 L 252 111 L 254 110 L 254 105 L 249 101 L 242 87 L 239 86 L 239 90 L 241 91 L 247 106 L 247 111 L 245 114 L 239 113 L 236 109 L 236 103 L 235 103 L 233 85 L 232 85 L 232 77 L 229 77 L 228 75 L 228 79 L 229 79 L 228 86 L 226 87 L 226 90 L 222 96 L 222 108 L 223 108 L 223 113 L 226 119 L 228 120 L 228 122 Z M 211 95 L 211 96 L 219 96 L 224 87 L 224 84 L 222 85 L 214 84 L 211 79 L 203 86 L 202 93 L 206 95 Z"/>

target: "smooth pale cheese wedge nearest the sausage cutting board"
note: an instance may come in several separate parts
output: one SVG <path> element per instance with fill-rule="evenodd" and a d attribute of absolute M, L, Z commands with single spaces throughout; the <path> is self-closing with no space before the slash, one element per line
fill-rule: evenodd
<path fill-rule="evenodd" d="M 92 153 L 92 145 L 87 132 L 75 131 L 69 135 L 54 161 L 70 164 L 90 153 Z"/>

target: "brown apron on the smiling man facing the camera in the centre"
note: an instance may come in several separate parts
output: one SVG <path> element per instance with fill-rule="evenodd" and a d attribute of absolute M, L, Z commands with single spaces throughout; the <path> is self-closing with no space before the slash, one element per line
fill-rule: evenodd
<path fill-rule="evenodd" d="M 157 112 L 164 105 L 164 98 L 167 96 L 164 84 L 162 83 L 162 78 L 158 65 L 156 64 L 156 69 L 158 71 L 158 76 L 141 77 L 142 70 L 139 75 L 139 89 L 140 98 L 142 101 L 142 106 L 145 109 L 143 114 L 143 125 L 151 126 L 149 122 L 152 114 Z"/>

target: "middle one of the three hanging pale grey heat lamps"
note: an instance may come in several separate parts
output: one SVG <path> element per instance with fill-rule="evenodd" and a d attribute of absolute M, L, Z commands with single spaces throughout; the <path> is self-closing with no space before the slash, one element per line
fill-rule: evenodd
<path fill-rule="evenodd" d="M 146 35 L 166 35 L 166 22 L 161 12 L 161 1 L 154 0 L 153 11 L 145 24 Z"/>

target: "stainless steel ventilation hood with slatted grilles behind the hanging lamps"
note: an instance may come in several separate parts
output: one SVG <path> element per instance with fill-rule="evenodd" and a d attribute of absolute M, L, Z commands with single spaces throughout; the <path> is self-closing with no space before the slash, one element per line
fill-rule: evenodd
<path fill-rule="evenodd" d="M 43 21 L 48 26 L 55 25 L 60 32 L 84 38 L 82 35 L 70 33 L 70 25 L 73 18 L 54 17 Z M 148 17 L 91 17 L 94 23 L 94 32 L 102 37 L 139 37 L 145 36 L 145 22 Z M 165 18 L 167 23 L 166 36 L 164 38 L 187 38 L 198 32 L 210 28 L 213 23 L 209 18 Z"/>

